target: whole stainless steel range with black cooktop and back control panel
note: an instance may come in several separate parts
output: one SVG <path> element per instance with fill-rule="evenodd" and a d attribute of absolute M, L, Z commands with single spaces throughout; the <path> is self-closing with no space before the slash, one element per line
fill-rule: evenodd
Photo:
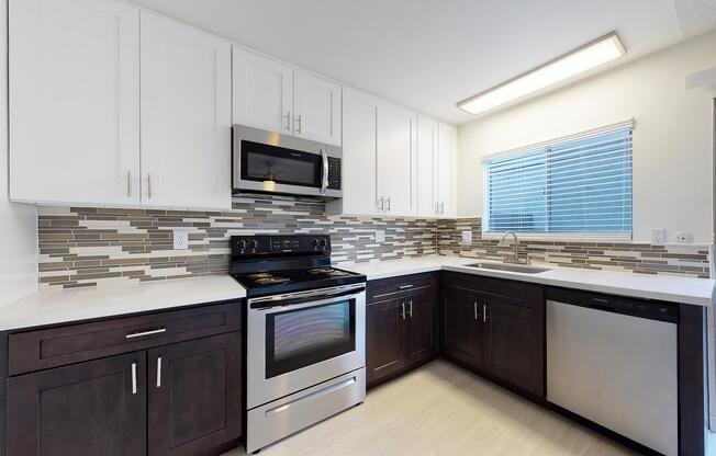
<path fill-rule="evenodd" d="M 246 451 L 365 400 L 366 277 L 331 266 L 328 236 L 232 237 L 247 289 Z"/>

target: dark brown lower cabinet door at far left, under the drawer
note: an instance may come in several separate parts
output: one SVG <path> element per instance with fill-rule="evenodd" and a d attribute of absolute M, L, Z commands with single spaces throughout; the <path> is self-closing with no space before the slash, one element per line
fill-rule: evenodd
<path fill-rule="evenodd" d="M 146 454 L 145 352 L 8 379 L 8 456 Z"/>

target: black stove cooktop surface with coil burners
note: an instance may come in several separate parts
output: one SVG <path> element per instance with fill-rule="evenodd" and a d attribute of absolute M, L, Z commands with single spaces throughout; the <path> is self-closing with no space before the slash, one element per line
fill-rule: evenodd
<path fill-rule="evenodd" d="M 366 282 L 366 276 L 331 266 L 233 274 L 249 297 Z"/>

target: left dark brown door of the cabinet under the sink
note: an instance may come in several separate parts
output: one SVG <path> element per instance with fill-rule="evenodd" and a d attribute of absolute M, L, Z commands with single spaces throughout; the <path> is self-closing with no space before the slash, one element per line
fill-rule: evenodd
<path fill-rule="evenodd" d="M 482 309 L 477 296 L 448 292 L 443 299 L 443 350 L 473 367 L 482 366 Z"/>

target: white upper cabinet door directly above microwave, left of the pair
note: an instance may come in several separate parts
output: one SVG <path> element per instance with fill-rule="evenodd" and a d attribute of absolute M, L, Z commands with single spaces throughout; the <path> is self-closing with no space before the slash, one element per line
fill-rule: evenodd
<path fill-rule="evenodd" d="M 293 134 L 293 69 L 234 47 L 234 123 Z"/>

